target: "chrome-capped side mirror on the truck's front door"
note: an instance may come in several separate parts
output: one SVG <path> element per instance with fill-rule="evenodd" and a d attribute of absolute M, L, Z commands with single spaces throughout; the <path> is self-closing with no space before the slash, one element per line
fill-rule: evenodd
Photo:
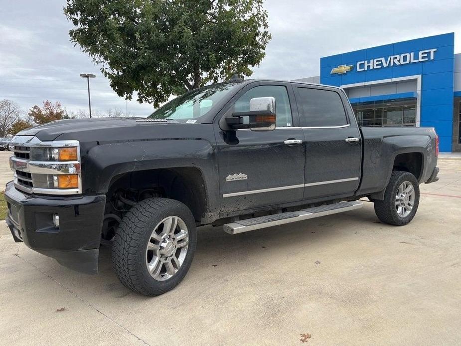
<path fill-rule="evenodd" d="M 276 126 L 275 98 L 255 97 L 250 100 L 249 112 L 234 112 L 226 118 L 233 129 L 251 129 L 253 131 L 273 131 Z M 243 117 L 249 117 L 249 123 L 243 123 Z"/>

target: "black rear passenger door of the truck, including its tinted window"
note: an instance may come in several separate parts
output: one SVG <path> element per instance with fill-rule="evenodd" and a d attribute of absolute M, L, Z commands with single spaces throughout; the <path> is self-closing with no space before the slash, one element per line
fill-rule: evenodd
<path fill-rule="evenodd" d="M 361 137 L 346 95 L 335 88 L 294 86 L 306 140 L 305 199 L 351 196 L 361 176 Z"/>

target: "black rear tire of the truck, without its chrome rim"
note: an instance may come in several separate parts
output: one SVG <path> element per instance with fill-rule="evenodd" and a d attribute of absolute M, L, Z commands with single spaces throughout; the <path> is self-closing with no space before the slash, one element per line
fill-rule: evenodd
<path fill-rule="evenodd" d="M 413 202 L 413 207 L 408 215 L 402 217 L 397 212 L 396 207 L 396 196 L 400 185 L 408 181 L 413 185 L 415 191 L 415 200 Z M 384 223 L 395 226 L 404 226 L 408 224 L 416 214 L 419 205 L 420 191 L 418 180 L 412 173 L 402 172 L 402 171 L 393 171 L 391 174 L 391 179 L 387 184 L 386 191 L 384 192 L 383 200 L 373 200 L 376 216 L 379 220 Z"/>

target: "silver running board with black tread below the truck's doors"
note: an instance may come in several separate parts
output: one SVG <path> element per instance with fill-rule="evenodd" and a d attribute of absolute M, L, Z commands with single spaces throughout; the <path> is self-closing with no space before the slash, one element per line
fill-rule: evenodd
<path fill-rule="evenodd" d="M 313 219 L 325 215 L 342 213 L 344 211 L 359 209 L 363 206 L 362 202 L 339 202 L 335 204 L 320 205 L 313 208 L 290 211 L 286 213 L 255 217 L 252 219 L 226 223 L 224 231 L 229 234 L 253 231 L 255 229 L 283 225 L 285 223 Z"/>

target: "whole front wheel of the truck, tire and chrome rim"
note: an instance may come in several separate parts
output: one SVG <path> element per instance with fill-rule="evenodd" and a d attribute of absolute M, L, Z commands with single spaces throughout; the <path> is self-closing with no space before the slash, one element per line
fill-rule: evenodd
<path fill-rule="evenodd" d="M 145 199 L 127 212 L 115 233 L 115 272 L 135 292 L 163 294 L 187 274 L 196 242 L 189 208 L 173 199 Z"/>

